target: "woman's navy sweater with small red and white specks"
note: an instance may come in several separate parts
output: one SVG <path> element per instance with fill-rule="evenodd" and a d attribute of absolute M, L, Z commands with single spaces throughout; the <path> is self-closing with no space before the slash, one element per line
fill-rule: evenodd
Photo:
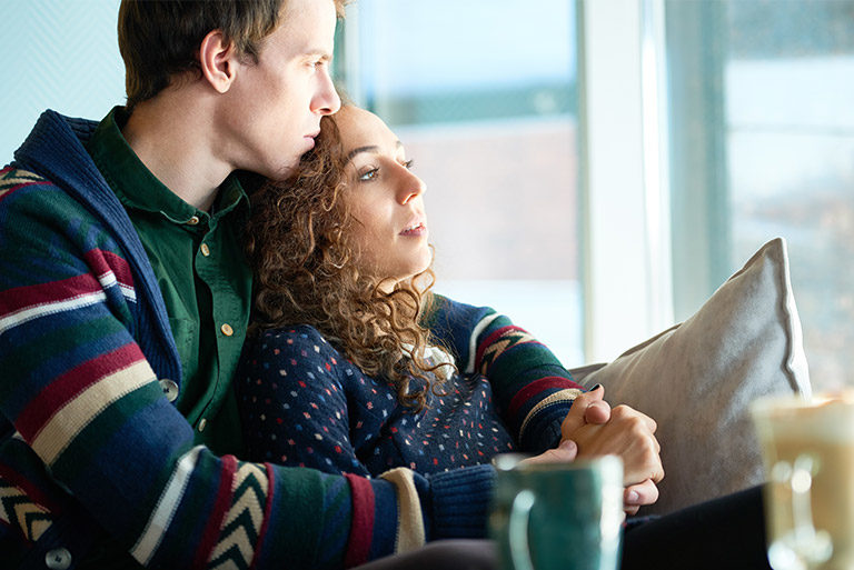
<path fill-rule="evenodd" d="M 238 370 L 248 459 L 379 477 L 488 463 L 516 450 L 480 374 L 451 378 L 415 412 L 394 384 L 365 374 L 309 326 L 264 332 Z"/>

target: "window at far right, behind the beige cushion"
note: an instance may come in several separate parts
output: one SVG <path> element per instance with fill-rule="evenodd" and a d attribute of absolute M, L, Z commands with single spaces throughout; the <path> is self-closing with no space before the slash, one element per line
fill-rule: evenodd
<path fill-rule="evenodd" d="M 854 1 L 666 13 L 677 317 L 783 236 L 813 382 L 854 383 Z"/>

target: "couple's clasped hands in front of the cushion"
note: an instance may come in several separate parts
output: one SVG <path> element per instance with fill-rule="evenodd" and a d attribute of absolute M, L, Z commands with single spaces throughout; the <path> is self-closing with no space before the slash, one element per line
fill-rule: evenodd
<path fill-rule="evenodd" d="M 603 400 L 605 390 L 578 396 L 560 426 L 560 444 L 527 462 L 566 462 L 576 457 L 617 456 L 623 459 L 624 510 L 636 514 L 644 504 L 658 500 L 656 483 L 664 478 L 657 426 L 648 416 L 628 406 L 613 410 Z"/>

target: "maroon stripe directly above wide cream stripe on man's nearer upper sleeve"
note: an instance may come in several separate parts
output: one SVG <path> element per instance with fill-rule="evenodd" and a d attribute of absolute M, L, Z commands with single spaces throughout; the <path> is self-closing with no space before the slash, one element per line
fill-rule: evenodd
<path fill-rule="evenodd" d="M 112 352 L 96 354 L 46 386 L 18 416 L 16 428 L 31 443 L 44 424 L 83 390 L 145 359 L 142 351 L 132 342 Z"/>

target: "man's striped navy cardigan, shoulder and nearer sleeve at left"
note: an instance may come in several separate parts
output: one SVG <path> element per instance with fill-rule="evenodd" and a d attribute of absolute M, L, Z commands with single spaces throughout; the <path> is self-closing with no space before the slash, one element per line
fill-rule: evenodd
<path fill-rule="evenodd" d="M 157 280 L 82 146 L 95 127 L 47 111 L 0 171 L 2 567 L 64 549 L 73 568 L 109 541 L 158 568 L 337 568 L 481 536 L 488 467 L 364 479 L 193 446 L 158 382 L 181 374 Z"/>

